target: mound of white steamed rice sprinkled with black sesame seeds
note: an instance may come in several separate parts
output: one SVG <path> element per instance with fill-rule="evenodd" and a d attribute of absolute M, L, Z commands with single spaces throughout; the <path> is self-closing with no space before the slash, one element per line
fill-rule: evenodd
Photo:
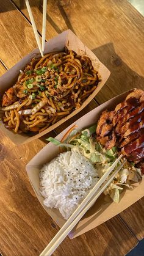
<path fill-rule="evenodd" d="M 74 150 L 60 153 L 40 170 L 40 192 L 46 207 L 68 219 L 98 181 L 93 165 Z"/>

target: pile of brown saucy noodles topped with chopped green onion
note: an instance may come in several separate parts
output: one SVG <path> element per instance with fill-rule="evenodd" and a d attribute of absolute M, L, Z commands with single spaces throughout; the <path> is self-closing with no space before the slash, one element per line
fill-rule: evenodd
<path fill-rule="evenodd" d="M 98 86 L 87 56 L 66 48 L 32 59 L 2 97 L 2 121 L 17 132 L 41 132 L 81 104 Z"/>

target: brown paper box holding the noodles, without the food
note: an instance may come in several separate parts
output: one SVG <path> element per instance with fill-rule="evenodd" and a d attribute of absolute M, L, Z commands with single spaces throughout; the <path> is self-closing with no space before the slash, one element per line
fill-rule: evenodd
<path fill-rule="evenodd" d="M 90 51 L 82 42 L 79 40 L 76 35 L 73 34 L 70 30 L 62 32 L 62 34 L 57 35 L 57 37 L 52 38 L 45 44 L 45 53 L 49 53 L 52 51 L 63 51 L 64 46 L 67 46 L 68 49 L 73 49 L 77 54 L 79 55 L 86 55 L 92 60 L 93 67 L 98 71 L 99 73 L 99 79 L 101 79 L 101 82 L 99 82 L 98 87 L 93 91 L 93 93 L 87 98 L 87 100 L 82 103 L 81 108 L 74 110 L 71 112 L 71 114 L 67 115 L 67 117 L 64 117 L 59 122 L 55 123 L 54 125 L 49 126 L 45 131 L 42 131 L 41 133 L 38 133 L 35 136 L 29 136 L 27 134 L 21 133 L 14 133 L 10 130 L 7 130 L 2 122 L 0 122 L 0 130 L 2 130 L 15 144 L 24 144 L 26 142 L 30 142 L 34 139 L 37 139 L 38 137 L 41 137 L 45 135 L 46 133 L 49 133 L 49 131 L 54 130 L 57 126 L 61 125 L 74 115 L 76 115 L 79 111 L 81 111 L 85 106 L 87 106 L 90 101 L 96 96 L 96 94 L 101 90 L 101 88 L 106 83 L 107 79 L 109 78 L 110 71 L 99 61 L 99 59 L 95 56 L 95 54 Z M 28 54 L 26 57 L 20 60 L 15 66 L 10 68 L 9 71 L 7 71 L 3 76 L 0 78 L 0 95 L 2 95 L 5 90 L 9 89 L 10 86 L 12 86 L 20 73 L 20 70 L 23 70 L 24 67 L 31 61 L 34 57 L 40 57 L 40 53 L 38 49 L 35 49 L 32 51 L 32 53 Z"/>

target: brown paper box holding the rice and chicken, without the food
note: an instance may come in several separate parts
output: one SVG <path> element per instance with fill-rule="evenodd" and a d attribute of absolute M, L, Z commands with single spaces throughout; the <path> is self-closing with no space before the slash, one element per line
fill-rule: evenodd
<path fill-rule="evenodd" d="M 129 92 L 122 93 L 115 98 L 103 103 L 101 106 L 93 109 L 92 111 L 85 114 L 83 117 L 78 119 L 72 125 L 70 125 L 67 129 L 65 129 L 62 133 L 60 133 L 56 139 L 62 139 L 63 135 L 67 133 L 67 131 L 73 126 L 77 125 L 78 128 L 87 128 L 88 126 L 93 125 L 97 120 L 101 111 L 104 109 L 112 110 L 115 106 L 123 101 Z M 31 182 L 32 188 L 35 191 L 35 194 L 40 201 L 41 205 L 47 213 L 51 216 L 51 218 L 56 221 L 59 227 L 65 223 L 65 219 L 63 219 L 62 215 L 59 213 L 59 210 L 54 208 L 46 208 L 43 205 L 43 197 L 39 192 L 39 172 L 40 168 L 43 164 L 48 163 L 51 159 L 55 158 L 59 154 L 59 147 L 53 145 L 49 142 L 26 166 L 27 174 L 29 176 L 29 180 Z M 74 238 L 76 236 L 81 235 L 82 233 L 87 232 L 90 229 L 102 224 L 113 216 L 117 215 L 121 211 L 128 208 L 130 205 L 135 203 L 144 195 L 144 179 L 140 184 L 134 184 L 134 190 L 125 190 L 121 194 L 120 203 L 114 203 L 112 201 L 104 200 L 104 195 L 101 195 L 99 199 L 96 201 L 95 205 L 93 205 L 90 210 L 84 215 L 84 217 L 79 221 L 79 223 L 74 227 L 74 229 L 70 232 L 69 237 Z M 106 199 L 106 197 L 105 197 Z"/>

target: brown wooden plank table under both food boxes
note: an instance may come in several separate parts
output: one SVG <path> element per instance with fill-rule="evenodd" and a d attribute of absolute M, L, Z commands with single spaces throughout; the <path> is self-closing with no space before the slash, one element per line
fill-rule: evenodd
<path fill-rule="evenodd" d="M 29 1 L 41 34 L 42 2 Z M 0 0 L 1 75 L 37 48 L 24 0 Z M 132 87 L 144 88 L 144 19 L 126 0 L 48 1 L 46 40 L 71 29 L 111 75 L 95 100 L 52 133 L 60 133 L 98 104 Z M 38 139 L 15 146 L 0 134 L 0 250 L 2 255 L 39 255 L 59 227 L 43 210 L 26 175 L 26 163 L 45 146 Z M 54 255 L 125 255 L 144 236 L 144 199 L 74 240 Z"/>

